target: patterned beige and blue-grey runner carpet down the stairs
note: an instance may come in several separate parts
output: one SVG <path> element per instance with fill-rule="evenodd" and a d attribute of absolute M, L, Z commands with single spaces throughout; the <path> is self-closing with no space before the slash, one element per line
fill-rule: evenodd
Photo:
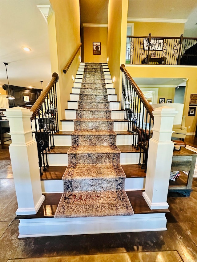
<path fill-rule="evenodd" d="M 133 215 L 101 63 L 85 63 L 55 218 Z"/>

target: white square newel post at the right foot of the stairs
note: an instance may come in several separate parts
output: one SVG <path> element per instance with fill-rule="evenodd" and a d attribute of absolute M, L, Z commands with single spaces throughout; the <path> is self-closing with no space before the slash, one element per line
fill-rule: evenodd
<path fill-rule="evenodd" d="M 167 209 L 167 193 L 174 145 L 172 126 L 178 111 L 159 107 L 154 115 L 153 137 L 149 141 L 147 174 L 143 197 L 150 209 Z"/>

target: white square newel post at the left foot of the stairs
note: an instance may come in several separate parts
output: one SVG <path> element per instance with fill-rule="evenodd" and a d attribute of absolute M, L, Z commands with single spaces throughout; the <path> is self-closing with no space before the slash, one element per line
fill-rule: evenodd
<path fill-rule="evenodd" d="M 29 109 L 14 107 L 6 110 L 12 144 L 9 146 L 18 201 L 17 215 L 36 214 L 42 195 L 38 166 L 37 143 L 32 138 Z"/>

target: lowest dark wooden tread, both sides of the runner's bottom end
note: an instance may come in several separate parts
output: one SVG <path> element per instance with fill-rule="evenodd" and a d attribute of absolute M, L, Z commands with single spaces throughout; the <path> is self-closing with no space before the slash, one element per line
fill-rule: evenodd
<path fill-rule="evenodd" d="M 126 191 L 129 201 L 133 207 L 135 214 L 148 214 L 148 213 L 167 213 L 169 209 L 154 209 L 151 210 L 142 196 L 142 190 L 139 191 Z M 54 217 L 58 203 L 62 193 L 43 194 L 45 200 L 40 209 L 35 215 L 18 215 L 15 219 L 28 219 L 28 218 L 47 218 Z"/>

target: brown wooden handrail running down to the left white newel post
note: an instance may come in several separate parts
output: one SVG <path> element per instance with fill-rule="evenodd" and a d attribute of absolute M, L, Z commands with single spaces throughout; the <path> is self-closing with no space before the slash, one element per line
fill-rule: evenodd
<path fill-rule="evenodd" d="M 48 93 L 50 92 L 51 88 L 54 86 L 55 83 L 58 82 L 58 74 L 53 73 L 51 80 L 47 84 L 46 88 L 43 90 L 41 95 L 38 97 L 30 111 L 33 112 L 33 115 L 31 116 L 31 121 L 34 119 L 34 116 L 36 115 L 38 109 L 42 106 L 42 103 L 45 101 L 45 98 L 47 97 Z"/>

